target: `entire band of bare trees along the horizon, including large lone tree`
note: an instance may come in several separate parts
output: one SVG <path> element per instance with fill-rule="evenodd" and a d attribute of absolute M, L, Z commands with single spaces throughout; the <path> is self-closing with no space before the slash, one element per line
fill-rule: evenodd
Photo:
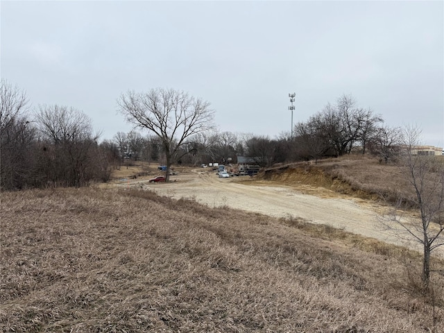
<path fill-rule="evenodd" d="M 102 142 L 81 110 L 65 105 L 31 110 L 25 92 L 3 79 L 0 98 L 1 189 L 104 182 L 113 168 L 130 160 L 158 161 L 167 169 L 176 163 L 234 163 L 239 155 L 264 168 L 353 152 L 388 160 L 401 138 L 398 128 L 384 126 L 379 114 L 359 108 L 348 95 L 296 123 L 293 137 L 281 133 L 271 139 L 217 130 L 210 103 L 186 92 L 128 91 L 117 99 L 117 110 L 134 130 Z"/>

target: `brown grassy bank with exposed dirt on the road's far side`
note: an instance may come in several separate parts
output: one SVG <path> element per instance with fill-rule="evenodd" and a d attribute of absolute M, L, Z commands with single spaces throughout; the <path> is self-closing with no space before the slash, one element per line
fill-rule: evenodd
<path fill-rule="evenodd" d="M 441 157 L 437 156 L 444 160 Z M 364 200 L 384 200 L 390 205 L 402 198 L 404 204 L 414 207 L 415 191 L 405 172 L 393 163 L 379 162 L 377 157 L 347 155 L 321 160 L 318 164 L 301 162 L 268 169 L 263 178 L 290 185 L 323 187 Z"/>

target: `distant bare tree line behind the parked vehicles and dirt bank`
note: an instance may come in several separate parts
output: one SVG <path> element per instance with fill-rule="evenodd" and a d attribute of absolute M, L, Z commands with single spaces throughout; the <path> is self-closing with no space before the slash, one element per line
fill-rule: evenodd
<path fill-rule="evenodd" d="M 397 154 L 402 142 L 400 128 L 384 126 L 379 114 L 357 107 L 355 99 L 347 95 L 341 96 L 334 105 L 328 103 L 306 122 L 296 123 L 294 133 L 293 138 L 289 133 L 281 133 L 271 139 L 252 133 L 205 130 L 190 135 L 180 145 L 171 140 L 171 144 L 178 146 L 172 158 L 196 166 L 207 162 L 235 162 L 237 156 L 244 155 L 252 157 L 261 167 L 350 153 L 370 153 L 388 161 Z M 122 157 L 129 153 L 135 159 L 150 156 L 147 151 L 151 149 L 154 153 L 151 160 L 156 160 L 162 151 L 158 148 L 161 146 L 158 136 L 144 138 L 135 131 L 117 133 L 114 144 L 119 146 Z"/>

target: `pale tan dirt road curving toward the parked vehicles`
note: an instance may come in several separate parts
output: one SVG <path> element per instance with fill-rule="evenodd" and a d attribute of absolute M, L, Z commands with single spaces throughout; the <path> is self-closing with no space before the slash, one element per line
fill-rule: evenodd
<path fill-rule="evenodd" d="M 333 191 L 310 188 L 308 185 L 298 188 L 250 181 L 243 177 L 218 178 L 216 173 L 204 170 L 195 169 L 179 176 L 171 176 L 169 183 L 148 184 L 147 180 L 135 180 L 120 186 L 143 187 L 161 196 L 190 198 L 210 207 L 228 206 L 284 218 L 293 216 L 387 243 L 401 244 L 398 237 L 384 230 L 381 216 L 377 214 L 382 207 L 377 203 L 347 198 Z M 307 194 L 307 191 L 315 195 Z M 416 243 L 402 245 L 420 250 Z"/>

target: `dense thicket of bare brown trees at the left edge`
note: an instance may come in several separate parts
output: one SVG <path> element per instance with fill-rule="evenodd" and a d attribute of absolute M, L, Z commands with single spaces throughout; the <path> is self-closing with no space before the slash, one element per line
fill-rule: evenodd
<path fill-rule="evenodd" d="M 108 151 L 92 121 L 75 108 L 40 105 L 0 83 L 0 188 L 80 187 L 110 178 Z"/>

